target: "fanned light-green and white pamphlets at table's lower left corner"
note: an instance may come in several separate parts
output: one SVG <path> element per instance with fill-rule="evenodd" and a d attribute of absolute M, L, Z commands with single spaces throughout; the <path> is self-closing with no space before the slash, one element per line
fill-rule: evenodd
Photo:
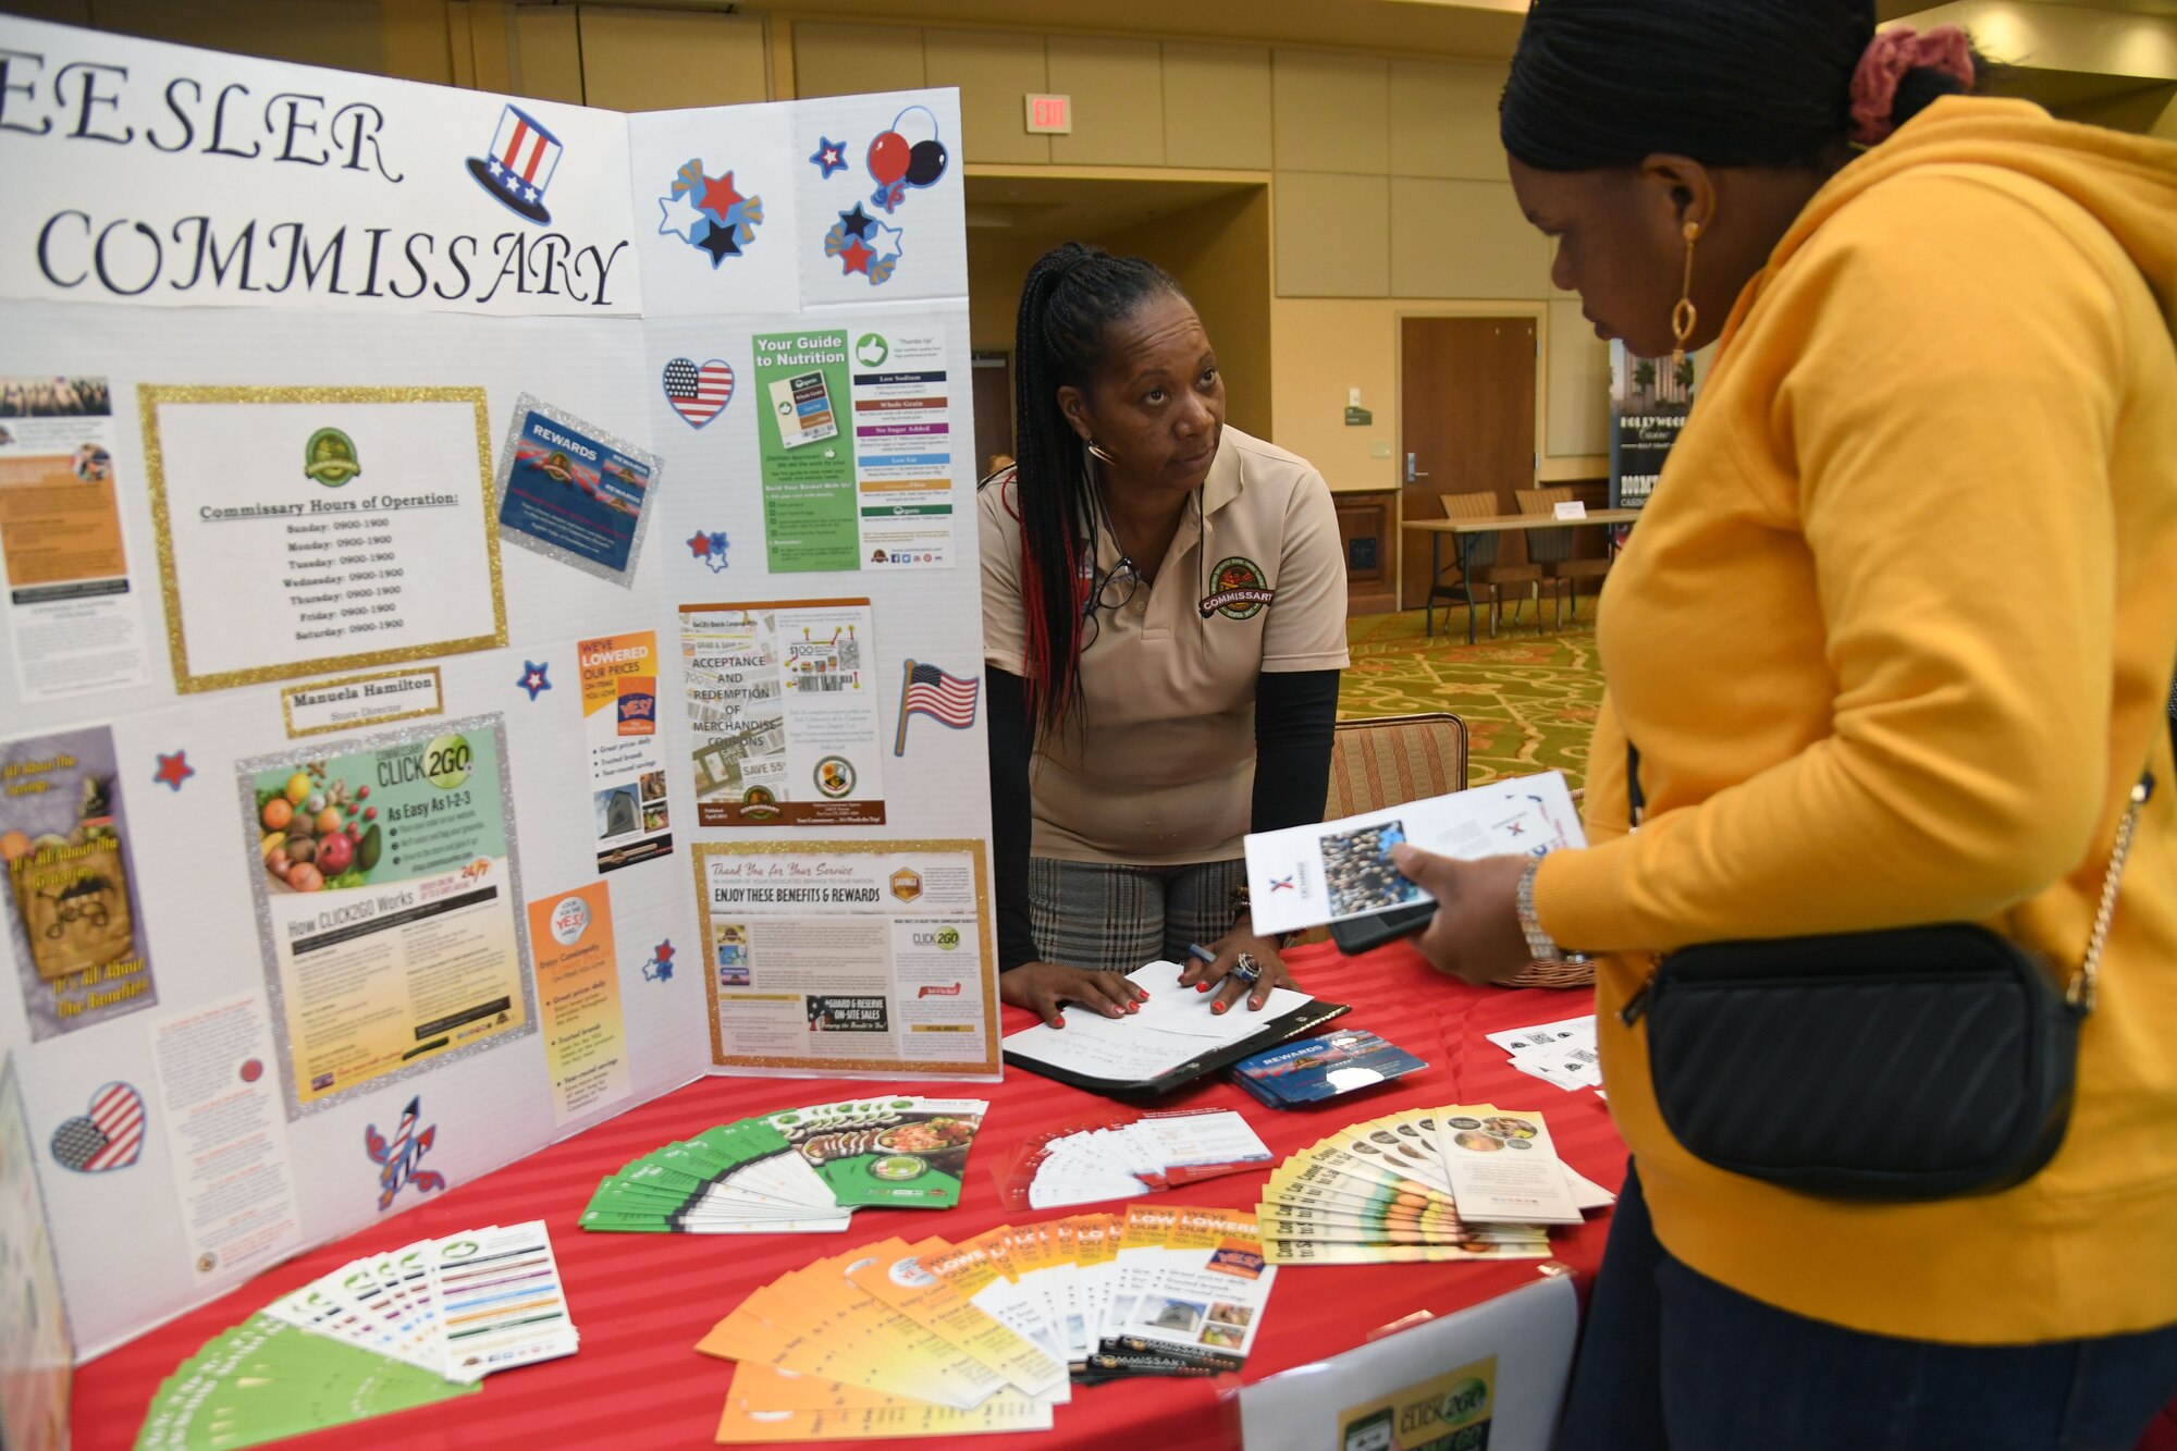
<path fill-rule="evenodd" d="M 540 1220 L 346 1264 L 205 1342 L 150 1401 L 137 1451 L 255 1447 L 479 1390 L 573 1355 Z"/>

